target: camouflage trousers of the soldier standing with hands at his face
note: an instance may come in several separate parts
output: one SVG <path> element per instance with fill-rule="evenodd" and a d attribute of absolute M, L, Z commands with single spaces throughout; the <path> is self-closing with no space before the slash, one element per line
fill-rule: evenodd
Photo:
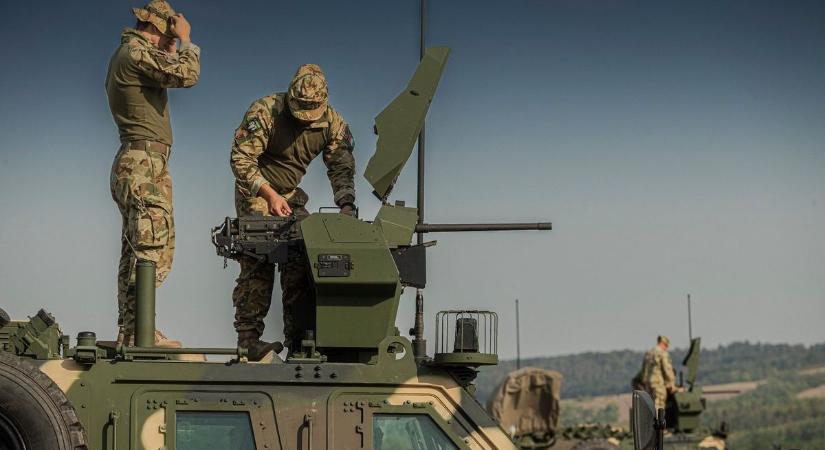
<path fill-rule="evenodd" d="M 155 286 L 172 269 L 175 223 L 172 177 L 166 155 L 139 149 L 121 150 L 111 173 L 112 198 L 123 220 L 117 271 L 118 327 L 132 335 L 135 328 L 135 262 L 154 261 Z"/>

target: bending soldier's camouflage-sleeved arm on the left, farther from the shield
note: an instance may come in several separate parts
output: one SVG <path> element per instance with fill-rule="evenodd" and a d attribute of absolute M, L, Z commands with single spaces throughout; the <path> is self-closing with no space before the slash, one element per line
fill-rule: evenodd
<path fill-rule="evenodd" d="M 261 175 L 258 157 L 269 143 L 272 124 L 272 106 L 260 99 L 249 106 L 240 126 L 235 130 L 229 165 L 241 192 L 251 197 L 258 195 L 261 186 L 269 184 Z"/>

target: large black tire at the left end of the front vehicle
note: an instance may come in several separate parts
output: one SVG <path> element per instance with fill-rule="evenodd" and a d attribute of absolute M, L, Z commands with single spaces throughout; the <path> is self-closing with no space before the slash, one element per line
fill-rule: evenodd
<path fill-rule="evenodd" d="M 31 362 L 2 351 L 0 450 L 87 450 L 63 391 Z"/>

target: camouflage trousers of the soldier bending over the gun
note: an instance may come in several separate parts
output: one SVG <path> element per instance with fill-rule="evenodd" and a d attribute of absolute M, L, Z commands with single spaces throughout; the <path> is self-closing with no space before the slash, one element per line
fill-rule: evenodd
<path fill-rule="evenodd" d="M 304 204 L 306 194 L 300 189 L 299 194 L 290 198 L 289 206 L 292 213 L 302 220 L 309 216 Z M 238 216 L 260 214 L 271 216 L 264 199 L 260 197 L 246 197 L 235 191 L 235 209 Z M 299 233 L 296 229 L 295 234 Z M 272 303 L 272 291 L 275 283 L 275 267 L 251 258 L 241 258 L 241 273 L 236 280 L 235 290 L 232 292 L 232 303 L 235 306 L 235 330 L 254 330 L 258 335 L 264 331 L 264 317 L 269 312 Z M 288 261 L 280 264 L 278 271 L 281 278 L 281 301 L 283 303 L 284 345 L 293 348 L 303 336 L 301 332 L 314 328 L 314 316 L 311 307 L 315 304 L 315 291 L 307 271 L 306 255 L 303 248 L 290 247 Z"/>

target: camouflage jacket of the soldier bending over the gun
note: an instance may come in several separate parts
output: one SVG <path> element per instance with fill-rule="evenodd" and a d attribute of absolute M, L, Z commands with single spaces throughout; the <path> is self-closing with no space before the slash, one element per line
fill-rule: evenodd
<path fill-rule="evenodd" d="M 290 114 L 284 93 L 269 95 L 252 103 L 235 130 L 230 155 L 235 186 L 246 197 L 258 195 L 264 184 L 288 195 L 323 153 L 335 204 L 354 202 L 353 146 L 349 125 L 331 106 L 305 125 Z"/>

